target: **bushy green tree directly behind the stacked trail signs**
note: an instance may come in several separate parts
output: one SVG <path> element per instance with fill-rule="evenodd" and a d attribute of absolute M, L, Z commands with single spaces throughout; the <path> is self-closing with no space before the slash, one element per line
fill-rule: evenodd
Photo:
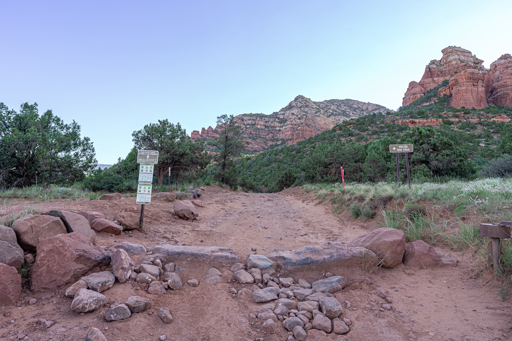
<path fill-rule="evenodd" d="M 177 175 L 196 174 L 210 162 L 202 141 L 193 142 L 186 135 L 180 123 L 176 125 L 167 119 L 146 124 L 132 134 L 135 147 L 141 150 L 158 151 L 158 164 L 154 174 L 158 185 L 163 185 L 165 174 L 170 168 Z"/>

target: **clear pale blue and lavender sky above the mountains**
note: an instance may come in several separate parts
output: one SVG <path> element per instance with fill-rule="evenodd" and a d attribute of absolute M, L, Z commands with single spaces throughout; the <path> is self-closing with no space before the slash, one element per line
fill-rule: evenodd
<path fill-rule="evenodd" d="M 297 95 L 396 110 L 447 46 L 487 68 L 512 54 L 511 15 L 508 0 L 0 0 L 0 102 L 77 121 L 115 163 L 158 119 L 190 134 Z"/>

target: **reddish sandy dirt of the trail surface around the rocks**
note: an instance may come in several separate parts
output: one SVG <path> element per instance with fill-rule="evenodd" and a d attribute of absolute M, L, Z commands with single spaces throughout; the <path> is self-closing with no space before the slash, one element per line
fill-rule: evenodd
<path fill-rule="evenodd" d="M 120 236 L 98 234 L 96 244 L 110 246 L 131 241 L 146 247 L 159 244 L 205 245 L 233 248 L 246 260 L 252 247 L 266 254 L 275 248 L 294 249 L 305 245 L 325 246 L 328 241 L 348 243 L 354 237 L 376 228 L 375 222 L 353 221 L 350 215 L 332 214 L 331 208 L 318 205 L 302 194 L 289 189 L 279 194 L 235 193 L 219 187 L 207 187 L 198 208 L 199 219 L 188 222 L 177 219 L 173 204 L 153 199 L 145 209 L 144 231 L 123 232 Z M 26 203 L 28 204 L 28 203 Z M 106 201 L 54 201 L 37 204 L 38 208 L 95 210 L 108 219 L 121 211 L 138 212 L 135 198 Z M 443 250 L 450 253 L 450 250 Z M 352 321 L 347 341 L 356 340 L 505 340 L 512 328 L 512 304 L 502 301 L 497 282 L 488 269 L 477 266 L 472 254 L 453 253 L 457 267 L 431 269 L 400 265 L 394 269 L 365 272 L 360 268 L 315 267 L 302 273 L 286 273 L 295 280 L 315 281 L 329 271 L 342 275 L 349 285 L 335 294 L 344 306 L 344 317 Z M 178 264 L 180 265 L 180 264 Z M 180 277 L 202 280 L 205 265 L 181 265 Z M 224 280 L 231 278 L 221 269 Z M 70 309 L 71 299 L 63 296 L 66 288 L 54 293 L 26 292 L 17 306 L 0 308 L 0 339 L 18 339 L 20 334 L 30 340 L 84 340 L 90 327 L 104 332 L 108 340 L 286 340 L 288 332 L 278 328 L 264 330 L 262 322 L 249 316 L 261 304 L 248 297 L 229 293 L 240 290 L 237 283 L 206 285 L 151 295 L 144 286 L 116 283 L 103 292 L 109 305 L 124 302 L 131 295 L 148 297 L 152 309 L 130 318 L 107 322 L 103 312 L 79 314 Z M 257 289 L 255 285 L 246 285 Z M 391 298 L 391 310 L 380 311 L 383 303 L 377 295 L 385 292 Z M 37 303 L 28 301 L 36 298 Z M 346 308 L 350 302 L 351 308 Z M 156 314 L 159 307 L 168 307 L 174 321 L 164 324 Z M 43 329 L 38 318 L 51 319 L 55 325 Z M 11 323 L 12 322 L 12 323 Z M 60 330 L 59 330 L 60 329 Z M 60 331 L 60 333 L 59 333 Z M 310 339 L 336 340 L 339 335 L 319 334 Z M 22 337 L 23 339 L 23 337 Z"/>

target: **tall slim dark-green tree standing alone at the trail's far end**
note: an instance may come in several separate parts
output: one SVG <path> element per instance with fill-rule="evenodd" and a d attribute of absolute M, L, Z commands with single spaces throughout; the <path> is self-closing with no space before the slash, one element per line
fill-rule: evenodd
<path fill-rule="evenodd" d="M 233 159 L 242 154 L 244 140 L 242 127 L 237 124 L 233 115 L 221 115 L 217 117 L 216 131 L 219 134 L 215 139 L 208 141 L 217 153 L 215 161 L 218 164 L 217 179 L 225 184 L 237 183 L 234 172 Z"/>

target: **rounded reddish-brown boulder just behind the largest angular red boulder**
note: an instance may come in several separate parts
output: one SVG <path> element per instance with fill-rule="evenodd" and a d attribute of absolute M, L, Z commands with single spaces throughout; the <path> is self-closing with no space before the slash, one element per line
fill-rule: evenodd
<path fill-rule="evenodd" d="M 26 215 L 19 218 L 12 224 L 12 229 L 16 232 L 19 246 L 31 252 L 35 251 L 41 240 L 68 233 L 60 218 L 44 215 Z"/>

